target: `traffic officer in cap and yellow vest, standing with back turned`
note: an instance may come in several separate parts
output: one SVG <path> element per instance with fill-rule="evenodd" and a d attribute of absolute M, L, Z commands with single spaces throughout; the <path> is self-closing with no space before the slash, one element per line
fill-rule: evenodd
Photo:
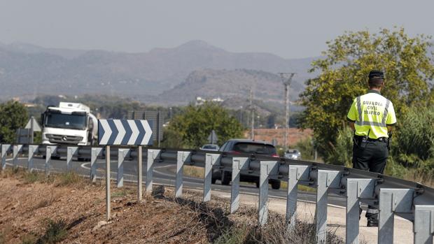
<path fill-rule="evenodd" d="M 396 124 L 395 110 L 391 101 L 381 96 L 384 73 L 370 71 L 367 94 L 353 100 L 346 119 L 354 130 L 353 168 L 375 173 L 384 173 L 389 135 Z M 360 212 L 361 213 L 361 212 Z M 378 226 L 378 209 L 368 206 L 367 227 Z"/>

